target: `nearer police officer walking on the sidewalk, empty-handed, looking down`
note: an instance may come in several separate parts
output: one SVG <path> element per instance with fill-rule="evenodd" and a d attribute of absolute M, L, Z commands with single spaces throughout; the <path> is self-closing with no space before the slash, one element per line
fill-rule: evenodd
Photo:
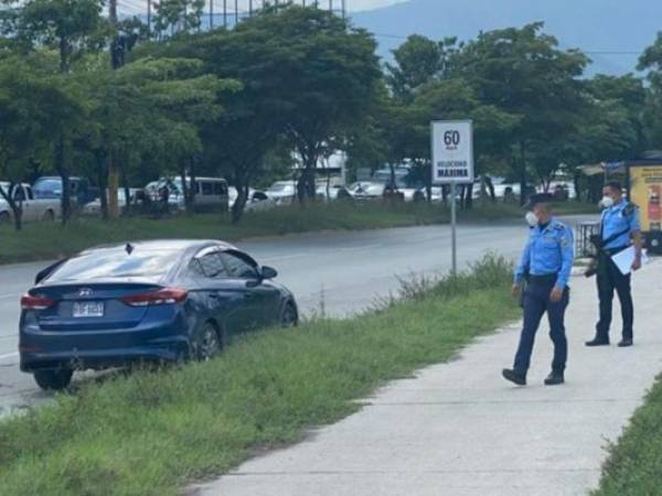
<path fill-rule="evenodd" d="M 549 337 L 554 343 L 552 373 L 545 385 L 563 384 L 568 344 L 565 335 L 565 311 L 569 302 L 568 279 L 575 258 L 573 230 L 552 216 L 547 195 L 534 195 L 530 201 L 532 212 L 526 214 L 531 226 L 528 240 L 517 268 L 513 294 L 523 293 L 524 327 L 512 369 L 504 369 L 503 377 L 519 386 L 526 385 L 535 334 L 545 313 L 549 321 Z"/>

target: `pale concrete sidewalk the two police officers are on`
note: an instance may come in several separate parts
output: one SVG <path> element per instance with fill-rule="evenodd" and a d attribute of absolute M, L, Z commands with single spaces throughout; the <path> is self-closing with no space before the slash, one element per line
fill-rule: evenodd
<path fill-rule="evenodd" d="M 345 420 L 252 460 L 201 495 L 581 495 L 596 487 L 616 441 L 662 371 L 662 261 L 634 279 L 636 346 L 586 348 L 597 315 L 595 279 L 573 280 L 565 386 L 542 381 L 552 345 L 541 327 L 530 386 L 511 387 L 520 325 L 365 400 Z M 620 338 L 615 305 L 612 342 Z"/>

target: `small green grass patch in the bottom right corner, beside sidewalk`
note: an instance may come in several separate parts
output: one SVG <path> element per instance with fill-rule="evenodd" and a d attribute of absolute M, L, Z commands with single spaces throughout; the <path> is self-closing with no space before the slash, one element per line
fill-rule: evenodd
<path fill-rule="evenodd" d="M 630 425 L 602 467 L 594 496 L 656 496 L 662 494 L 662 376 L 634 412 Z"/>

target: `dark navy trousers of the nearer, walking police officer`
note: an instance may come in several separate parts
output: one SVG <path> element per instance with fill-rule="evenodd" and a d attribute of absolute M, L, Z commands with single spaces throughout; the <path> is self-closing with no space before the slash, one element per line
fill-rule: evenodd
<path fill-rule="evenodd" d="M 536 280 L 534 277 L 524 291 L 524 328 L 520 336 L 520 346 L 515 355 L 514 366 L 517 374 L 525 376 L 528 370 L 535 334 L 545 312 L 549 321 L 549 337 L 554 343 L 552 370 L 562 374 L 565 370 L 568 357 L 568 342 L 565 335 L 564 319 L 569 302 L 569 289 L 566 288 L 560 301 L 554 303 L 549 299 L 549 294 L 555 283 L 555 277 L 547 278 L 547 280 Z"/>

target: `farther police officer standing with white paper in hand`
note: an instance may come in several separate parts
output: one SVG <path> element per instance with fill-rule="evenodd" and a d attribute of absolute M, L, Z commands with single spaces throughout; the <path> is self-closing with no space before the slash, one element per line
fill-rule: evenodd
<path fill-rule="evenodd" d="M 623 274 L 611 257 L 630 246 L 634 246 L 632 270 L 641 268 L 641 224 L 639 208 L 623 198 L 619 182 L 607 183 L 602 190 L 602 218 L 600 222 L 601 247 L 598 254 L 598 298 L 600 300 L 600 320 L 596 325 L 596 336 L 586 346 L 609 345 L 611 306 L 613 291 L 618 293 L 623 320 L 620 347 L 632 346 L 634 308 L 632 304 L 631 273 Z"/>

